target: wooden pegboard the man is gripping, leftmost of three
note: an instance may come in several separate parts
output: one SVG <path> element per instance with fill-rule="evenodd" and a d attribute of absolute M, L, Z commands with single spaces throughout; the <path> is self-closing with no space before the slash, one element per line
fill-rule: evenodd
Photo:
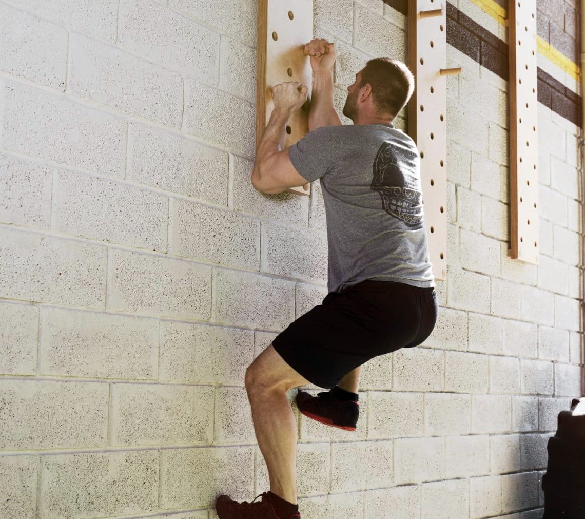
<path fill-rule="evenodd" d="M 313 37 L 312 0 L 260 0 L 256 83 L 256 149 L 274 109 L 271 89 L 285 81 L 300 81 L 312 88 L 309 57 L 302 49 Z M 282 149 L 294 145 L 309 131 L 309 99 L 287 122 Z M 308 195 L 309 184 L 292 193 Z"/>

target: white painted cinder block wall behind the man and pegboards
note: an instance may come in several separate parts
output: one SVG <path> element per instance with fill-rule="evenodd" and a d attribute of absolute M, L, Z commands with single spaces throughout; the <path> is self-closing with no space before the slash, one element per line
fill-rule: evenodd
<path fill-rule="evenodd" d="M 269 489 L 244 373 L 321 302 L 327 252 L 318 183 L 250 184 L 256 17 L 0 2 L 0 517 L 214 519 L 219 493 Z M 314 21 L 339 112 L 368 59 L 406 59 L 382 0 L 316 0 Z M 580 394 L 577 128 L 539 106 L 540 264 L 509 259 L 507 83 L 448 61 L 439 321 L 366 366 L 357 432 L 294 407 L 307 519 L 541 517 L 546 441 Z"/>

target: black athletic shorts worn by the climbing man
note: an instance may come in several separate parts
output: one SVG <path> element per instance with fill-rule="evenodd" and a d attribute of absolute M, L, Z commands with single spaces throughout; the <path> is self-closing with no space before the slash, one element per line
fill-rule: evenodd
<path fill-rule="evenodd" d="M 368 360 L 424 342 L 438 311 L 434 287 L 369 279 L 327 294 L 272 344 L 305 379 L 331 389 Z"/>

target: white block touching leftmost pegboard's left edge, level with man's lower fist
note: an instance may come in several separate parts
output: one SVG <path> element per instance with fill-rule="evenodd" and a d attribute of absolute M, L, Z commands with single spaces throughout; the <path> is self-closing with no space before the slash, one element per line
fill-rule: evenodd
<path fill-rule="evenodd" d="M 256 118 L 253 105 L 187 78 L 184 111 L 183 132 L 228 151 L 250 158 L 254 156 Z"/>

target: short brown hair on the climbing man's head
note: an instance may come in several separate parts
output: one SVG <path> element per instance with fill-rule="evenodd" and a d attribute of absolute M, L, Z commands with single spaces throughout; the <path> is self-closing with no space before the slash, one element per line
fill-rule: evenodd
<path fill-rule="evenodd" d="M 374 58 L 362 70 L 362 83 L 371 85 L 374 105 L 381 114 L 395 117 L 414 91 L 414 76 L 402 61 Z"/>

